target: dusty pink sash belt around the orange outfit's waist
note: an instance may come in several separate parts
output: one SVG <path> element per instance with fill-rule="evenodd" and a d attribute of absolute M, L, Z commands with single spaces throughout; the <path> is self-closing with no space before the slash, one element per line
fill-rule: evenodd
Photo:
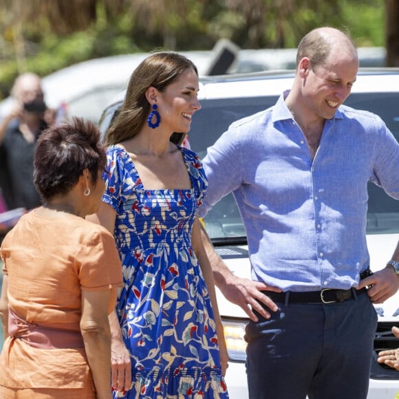
<path fill-rule="evenodd" d="M 8 309 L 8 334 L 39 349 L 67 349 L 84 347 L 82 334 L 72 330 L 58 330 L 29 323 Z"/>

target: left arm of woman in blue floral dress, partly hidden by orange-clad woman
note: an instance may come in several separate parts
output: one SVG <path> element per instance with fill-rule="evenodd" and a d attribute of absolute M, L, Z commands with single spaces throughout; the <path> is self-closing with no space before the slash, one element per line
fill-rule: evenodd
<path fill-rule="evenodd" d="M 98 213 L 89 215 L 86 219 L 104 226 L 114 235 L 116 211 L 109 204 L 101 202 Z M 116 391 L 127 390 L 131 386 L 131 360 L 129 351 L 123 342 L 115 309 L 109 314 L 109 325 L 111 328 L 111 386 Z"/>

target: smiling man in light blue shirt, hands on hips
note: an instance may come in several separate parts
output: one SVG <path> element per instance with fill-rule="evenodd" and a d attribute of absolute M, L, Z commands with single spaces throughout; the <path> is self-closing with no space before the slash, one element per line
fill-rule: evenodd
<path fill-rule="evenodd" d="M 392 266 L 367 277 L 367 182 L 399 199 L 399 144 L 378 116 L 343 105 L 357 72 L 348 36 L 313 30 L 292 89 L 233 123 L 204 159 L 200 215 L 233 192 L 248 235 L 252 281 L 233 276 L 205 235 L 204 244 L 218 287 L 251 319 L 251 399 L 367 396 L 371 301 L 399 287 Z"/>

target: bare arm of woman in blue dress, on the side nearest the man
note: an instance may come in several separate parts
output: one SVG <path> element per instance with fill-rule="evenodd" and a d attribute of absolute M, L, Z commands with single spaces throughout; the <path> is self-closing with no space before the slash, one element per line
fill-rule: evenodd
<path fill-rule="evenodd" d="M 209 263 L 208 256 L 206 255 L 204 245 L 202 244 L 200 219 L 196 217 L 193 225 L 193 248 L 195 256 L 200 262 L 202 274 L 205 279 L 206 288 L 208 289 L 209 298 L 211 299 L 211 305 L 213 308 L 213 315 L 215 316 L 217 341 L 219 343 L 220 362 L 222 363 L 222 374 L 226 374 L 228 367 L 228 353 L 226 347 L 226 341 L 224 340 L 224 329 L 222 320 L 219 315 L 219 308 L 217 307 L 216 292 L 215 292 L 215 281 L 213 281 L 213 272 L 211 263 Z"/>

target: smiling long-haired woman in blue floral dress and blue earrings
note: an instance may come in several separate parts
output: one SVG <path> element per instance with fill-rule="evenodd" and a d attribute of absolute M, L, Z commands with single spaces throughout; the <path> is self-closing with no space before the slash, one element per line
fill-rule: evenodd
<path fill-rule="evenodd" d="M 198 87 L 187 58 L 152 54 L 107 132 L 106 190 L 92 220 L 114 233 L 122 260 L 124 287 L 110 317 L 114 398 L 228 398 L 197 217 L 206 176 L 197 155 L 171 140 L 190 129 Z"/>

